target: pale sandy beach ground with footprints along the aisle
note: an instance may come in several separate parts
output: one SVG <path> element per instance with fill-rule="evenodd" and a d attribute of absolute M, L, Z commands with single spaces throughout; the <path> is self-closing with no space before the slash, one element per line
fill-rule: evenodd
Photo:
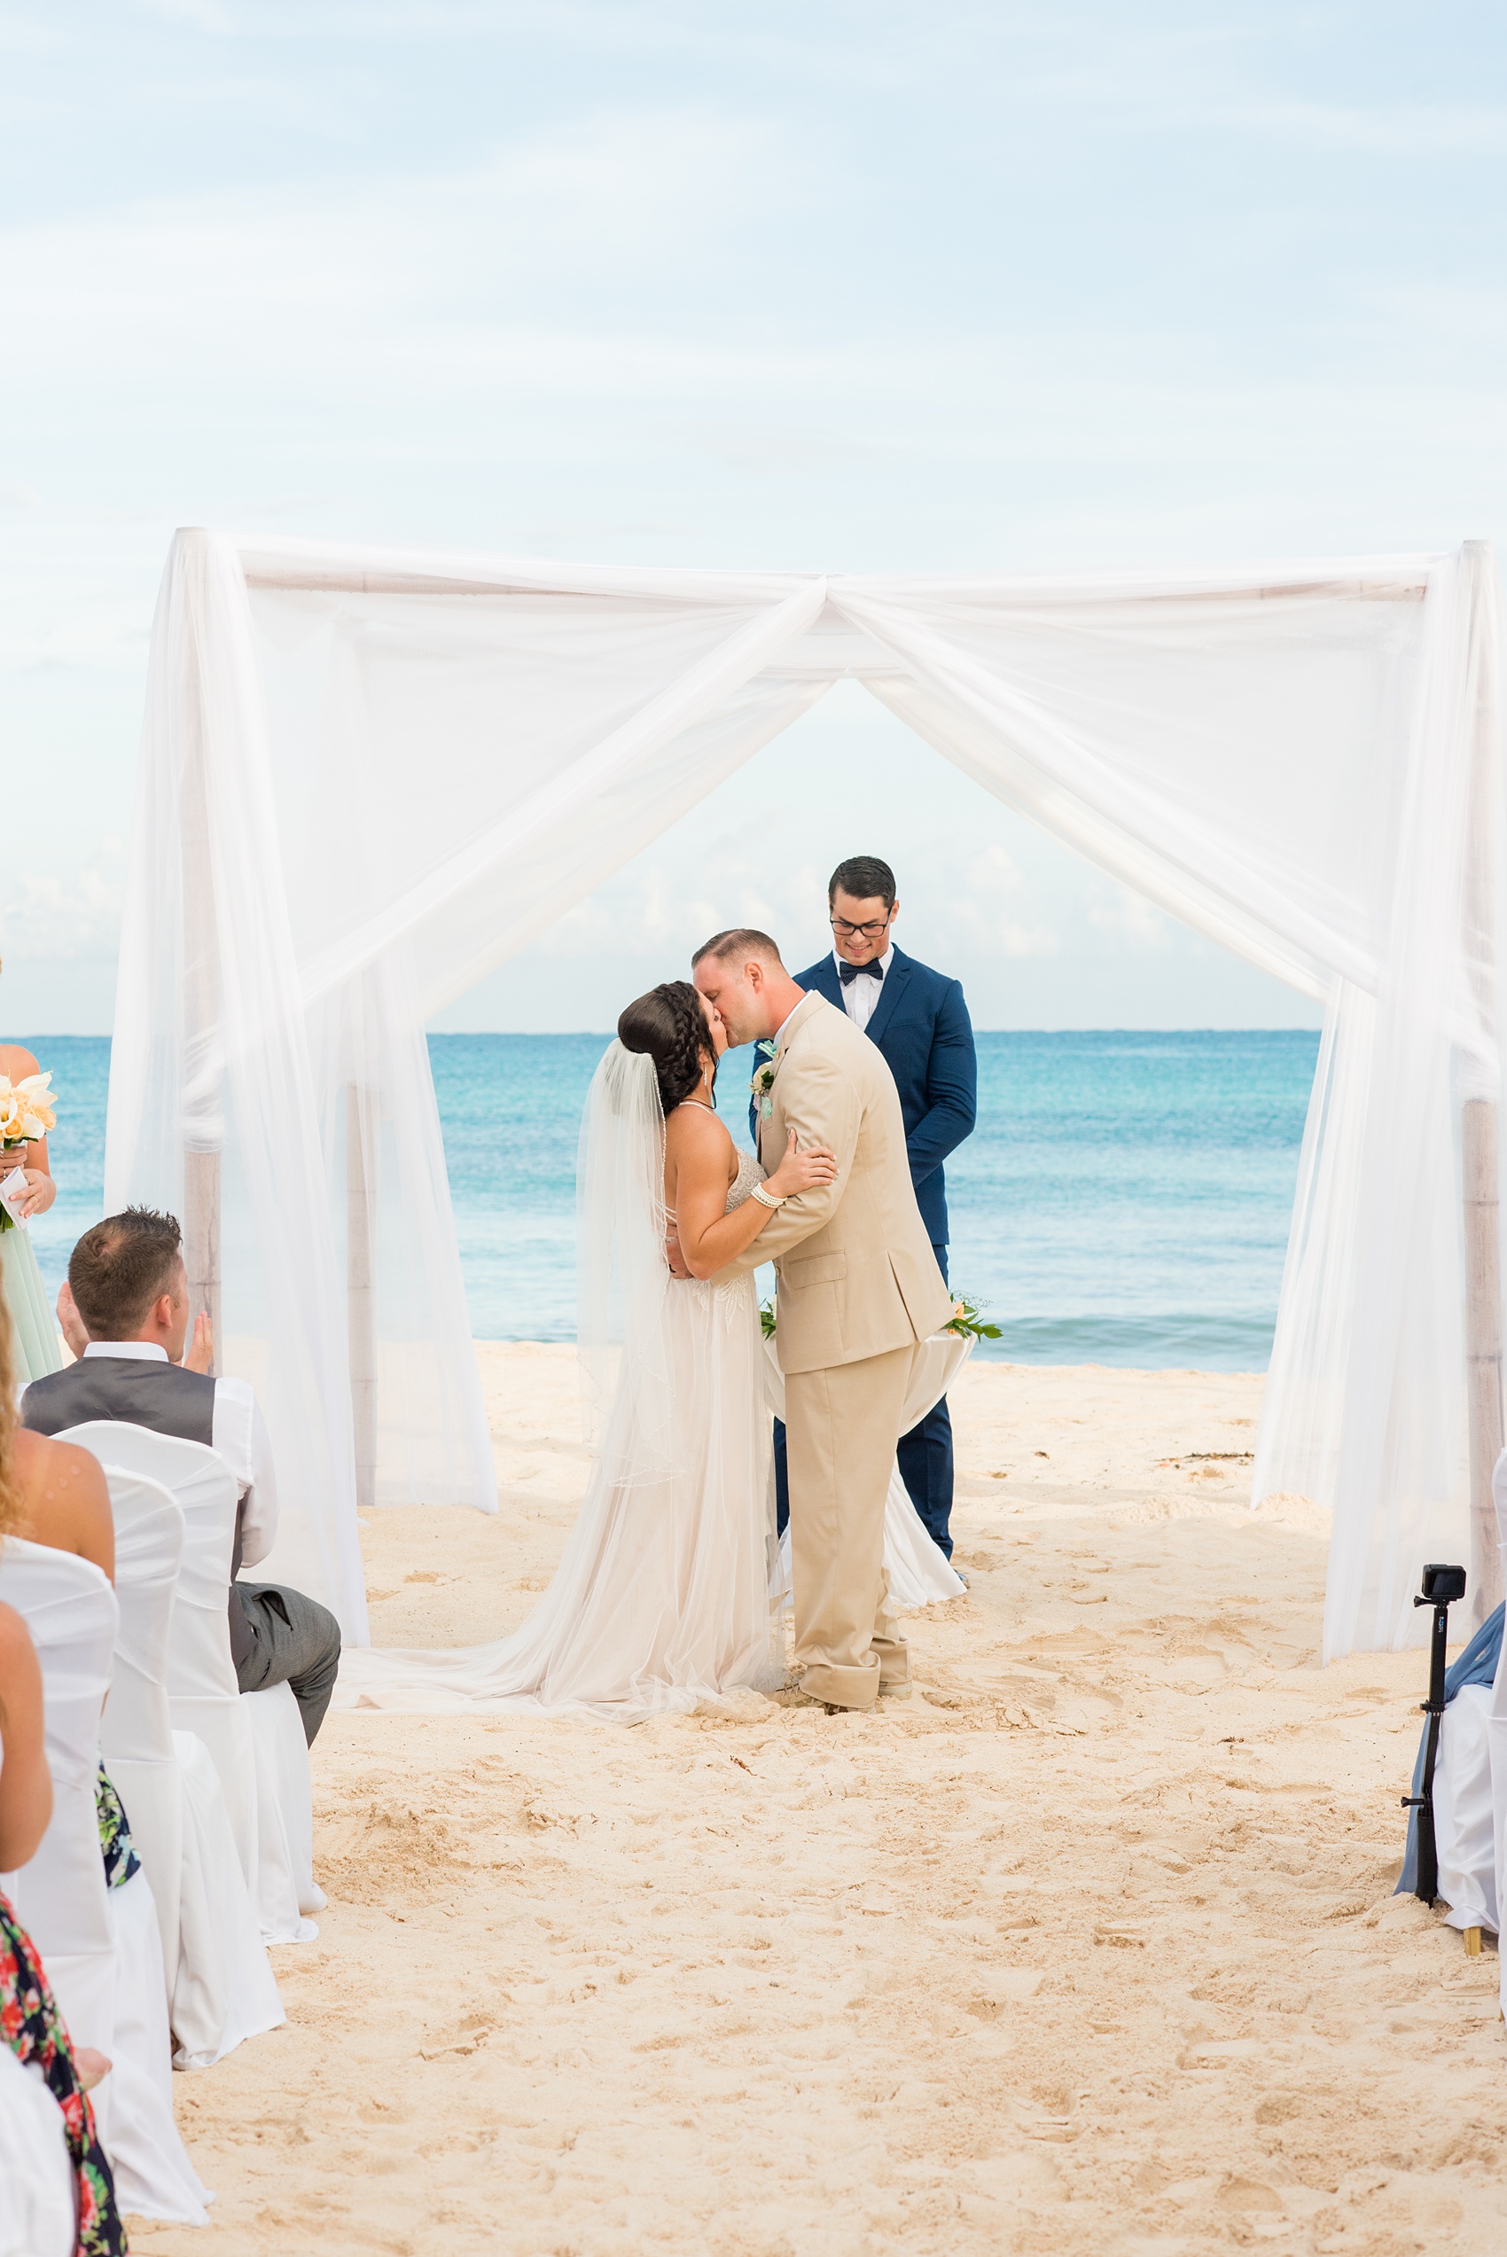
<path fill-rule="evenodd" d="M 569 1350 L 481 1350 L 503 1512 L 370 1517 L 377 1643 L 521 1618 Z M 1317 1668 L 1261 1381 L 972 1365 L 966 1600 L 873 1718 L 336 1715 L 289 2027 L 176 2079 L 162 2257 L 1403 2257 L 1507 2241 L 1498 1961 L 1390 1896 L 1419 1657 Z"/>

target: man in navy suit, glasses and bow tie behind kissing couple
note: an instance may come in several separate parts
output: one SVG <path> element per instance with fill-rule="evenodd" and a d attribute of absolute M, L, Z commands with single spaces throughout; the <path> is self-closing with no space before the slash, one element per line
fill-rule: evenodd
<path fill-rule="evenodd" d="M 948 1185 L 943 1160 L 972 1135 L 977 1056 L 963 989 L 907 957 L 893 941 L 900 914 L 896 873 L 878 855 L 839 862 L 826 889 L 832 955 L 796 973 L 862 1027 L 896 1077 L 916 1205 L 932 1253 L 948 1275 Z M 758 1142 L 758 1124 L 754 1124 Z M 952 1420 L 948 1397 L 920 1426 L 900 1435 L 900 1478 L 932 1542 L 952 1557 Z M 774 1485 L 781 1535 L 790 1519 L 785 1429 L 774 1426 Z"/>

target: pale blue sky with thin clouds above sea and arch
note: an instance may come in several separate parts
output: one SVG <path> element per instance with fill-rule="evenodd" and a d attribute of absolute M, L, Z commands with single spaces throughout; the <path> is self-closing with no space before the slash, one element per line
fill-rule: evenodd
<path fill-rule="evenodd" d="M 7 1027 L 108 1027 L 174 524 L 830 569 L 1500 537 L 1505 61 L 1500 9 L 1390 0 L 0 0 Z M 857 691 L 444 1022 L 609 1025 L 688 892 L 803 961 L 844 851 L 984 1025 L 1311 1022 Z"/>

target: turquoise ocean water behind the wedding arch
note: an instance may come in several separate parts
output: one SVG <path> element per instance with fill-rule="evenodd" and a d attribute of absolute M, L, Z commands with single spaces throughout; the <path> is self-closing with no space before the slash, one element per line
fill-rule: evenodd
<path fill-rule="evenodd" d="M 56 1289 L 104 1196 L 111 1045 L 25 1036 L 59 1092 Z M 472 1332 L 569 1341 L 575 1135 L 602 1034 L 435 1034 Z M 1317 1034 L 981 1034 L 979 1126 L 948 1162 L 952 1284 L 1015 1363 L 1263 1370 Z M 751 1054 L 717 1106 L 749 1142 Z"/>

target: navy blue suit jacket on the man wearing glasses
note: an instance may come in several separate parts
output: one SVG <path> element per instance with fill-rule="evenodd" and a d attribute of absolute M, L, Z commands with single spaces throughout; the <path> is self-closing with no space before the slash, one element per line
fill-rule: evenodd
<path fill-rule="evenodd" d="M 814 989 L 841 1011 L 841 977 L 832 957 L 796 973 L 796 984 Z M 916 1205 L 932 1246 L 948 1244 L 948 1180 L 943 1160 L 972 1135 L 979 1065 L 972 1047 L 968 1004 L 957 980 L 945 980 L 896 948 L 873 1007 L 871 1043 L 896 1077 L 905 1115 L 905 1149 L 911 1160 Z"/>

